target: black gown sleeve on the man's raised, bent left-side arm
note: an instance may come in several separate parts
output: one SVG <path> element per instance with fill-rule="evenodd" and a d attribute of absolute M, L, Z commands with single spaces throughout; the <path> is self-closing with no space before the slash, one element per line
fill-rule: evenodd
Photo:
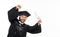
<path fill-rule="evenodd" d="M 10 22 L 17 20 L 17 16 L 18 16 L 18 9 L 16 9 L 16 7 L 13 7 L 11 10 L 8 11 L 8 19 Z"/>

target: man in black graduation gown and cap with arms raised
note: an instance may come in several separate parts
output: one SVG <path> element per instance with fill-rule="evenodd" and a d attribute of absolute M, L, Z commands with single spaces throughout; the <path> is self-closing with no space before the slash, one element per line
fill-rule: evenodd
<path fill-rule="evenodd" d="M 18 11 L 21 8 L 20 5 L 13 7 L 11 10 L 8 11 L 8 19 L 11 23 L 9 28 L 8 36 L 7 37 L 26 37 L 27 32 L 35 34 L 41 32 L 41 20 L 34 26 L 29 26 L 25 24 L 27 17 L 30 14 L 27 11 Z M 19 20 L 17 17 L 19 16 Z"/>

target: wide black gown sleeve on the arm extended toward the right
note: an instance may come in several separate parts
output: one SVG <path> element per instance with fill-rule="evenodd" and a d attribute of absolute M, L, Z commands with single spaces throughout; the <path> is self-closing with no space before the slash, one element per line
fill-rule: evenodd
<path fill-rule="evenodd" d="M 38 25 L 38 23 L 36 23 L 34 26 L 28 25 L 27 32 L 32 33 L 32 34 L 40 33 L 41 32 L 41 24 Z"/>

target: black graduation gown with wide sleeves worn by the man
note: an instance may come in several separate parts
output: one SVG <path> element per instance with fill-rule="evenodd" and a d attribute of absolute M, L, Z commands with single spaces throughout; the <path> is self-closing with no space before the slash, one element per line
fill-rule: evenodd
<path fill-rule="evenodd" d="M 17 17 L 18 9 L 16 9 L 16 7 L 8 11 L 8 19 L 11 25 L 9 27 L 7 37 L 26 37 L 27 32 L 32 34 L 41 32 L 41 25 L 38 25 L 38 23 L 36 23 L 34 26 L 29 26 L 27 24 L 20 26 Z"/>

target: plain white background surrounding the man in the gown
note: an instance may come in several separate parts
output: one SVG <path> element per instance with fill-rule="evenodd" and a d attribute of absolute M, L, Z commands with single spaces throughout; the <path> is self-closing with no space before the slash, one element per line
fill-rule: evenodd
<path fill-rule="evenodd" d="M 42 19 L 42 32 L 28 33 L 27 37 L 60 37 L 59 0 L 0 0 L 0 37 L 7 37 L 10 26 L 7 12 L 18 4 L 22 6 L 21 10 L 27 10 L 31 14 L 27 24 L 34 25 L 38 16 Z"/>

